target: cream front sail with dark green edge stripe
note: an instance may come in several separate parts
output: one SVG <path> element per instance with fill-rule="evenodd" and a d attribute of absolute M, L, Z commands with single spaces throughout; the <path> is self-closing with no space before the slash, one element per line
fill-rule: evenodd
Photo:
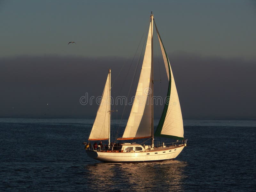
<path fill-rule="evenodd" d="M 156 26 L 156 23 L 155 23 L 155 26 Z M 160 43 L 167 76 L 169 79 L 169 86 L 168 86 L 167 97 L 164 105 L 164 110 L 160 118 L 160 121 L 158 123 L 155 136 L 184 139 L 180 101 L 179 101 L 176 85 L 174 82 L 174 78 L 172 75 L 172 68 L 171 68 L 169 59 L 167 57 L 167 54 L 165 52 L 164 45 L 159 35 L 159 32 L 157 30 L 157 27 L 156 27 L 156 32 L 157 32 L 158 40 Z"/>

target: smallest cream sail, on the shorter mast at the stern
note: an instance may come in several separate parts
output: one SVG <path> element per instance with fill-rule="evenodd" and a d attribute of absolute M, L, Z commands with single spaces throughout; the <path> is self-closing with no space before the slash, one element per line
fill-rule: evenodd
<path fill-rule="evenodd" d="M 89 136 L 89 140 L 108 140 L 109 137 L 109 111 L 110 111 L 110 87 L 109 76 L 104 87 L 104 91 L 101 97 L 100 106 L 97 111 L 96 118 L 94 120 L 92 131 Z"/>

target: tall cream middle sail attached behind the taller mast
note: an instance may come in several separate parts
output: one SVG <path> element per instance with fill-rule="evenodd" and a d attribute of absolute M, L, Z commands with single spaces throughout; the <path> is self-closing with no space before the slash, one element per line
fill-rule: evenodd
<path fill-rule="evenodd" d="M 151 137 L 151 23 L 149 26 L 148 40 L 142 68 L 140 72 L 139 84 L 132 105 L 132 110 L 125 127 L 122 138 L 139 139 Z M 149 94 L 148 94 L 149 92 Z"/>

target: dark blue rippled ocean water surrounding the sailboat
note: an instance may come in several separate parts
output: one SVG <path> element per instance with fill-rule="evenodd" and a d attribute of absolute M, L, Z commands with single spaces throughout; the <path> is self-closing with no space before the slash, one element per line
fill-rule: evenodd
<path fill-rule="evenodd" d="M 175 160 L 134 164 L 89 158 L 82 142 L 92 123 L 0 118 L 0 190 L 256 190 L 255 120 L 184 120 L 188 145 Z"/>

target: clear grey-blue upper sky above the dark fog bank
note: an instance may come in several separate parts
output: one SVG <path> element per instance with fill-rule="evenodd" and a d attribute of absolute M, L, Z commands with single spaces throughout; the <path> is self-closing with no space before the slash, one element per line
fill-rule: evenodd
<path fill-rule="evenodd" d="M 0 1 L 0 57 L 133 56 L 150 12 L 166 50 L 254 59 L 254 1 Z M 76 45 L 67 46 L 69 41 Z"/>

